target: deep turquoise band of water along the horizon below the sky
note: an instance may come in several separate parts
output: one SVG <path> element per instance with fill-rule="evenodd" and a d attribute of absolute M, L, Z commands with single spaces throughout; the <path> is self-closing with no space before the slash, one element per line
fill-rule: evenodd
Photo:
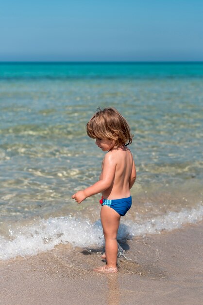
<path fill-rule="evenodd" d="M 1 79 L 203 77 L 202 62 L 188 63 L 0 63 Z"/>

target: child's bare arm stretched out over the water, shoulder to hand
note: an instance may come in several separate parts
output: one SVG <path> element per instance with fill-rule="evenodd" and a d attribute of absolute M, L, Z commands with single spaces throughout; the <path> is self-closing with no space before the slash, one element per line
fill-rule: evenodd
<path fill-rule="evenodd" d="M 112 185 L 114 181 L 115 172 L 116 162 L 112 157 L 112 154 L 107 153 L 103 160 L 101 180 L 85 190 L 78 191 L 77 193 L 72 195 L 72 198 L 75 199 L 78 203 L 81 203 L 83 200 L 85 200 L 85 198 L 105 191 Z"/>

